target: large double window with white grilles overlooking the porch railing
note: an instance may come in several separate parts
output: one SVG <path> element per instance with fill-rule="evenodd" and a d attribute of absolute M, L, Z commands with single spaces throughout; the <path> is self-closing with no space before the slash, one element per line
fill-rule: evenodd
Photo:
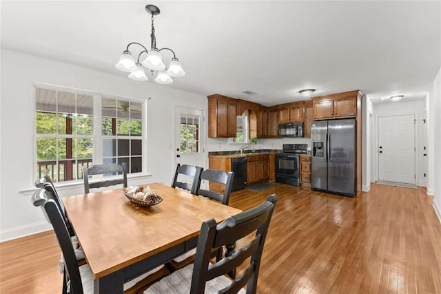
<path fill-rule="evenodd" d="M 142 103 L 121 98 L 36 87 L 37 178 L 81 180 L 82 167 L 92 162 L 125 162 L 129 173 L 142 172 L 142 109 Z"/>

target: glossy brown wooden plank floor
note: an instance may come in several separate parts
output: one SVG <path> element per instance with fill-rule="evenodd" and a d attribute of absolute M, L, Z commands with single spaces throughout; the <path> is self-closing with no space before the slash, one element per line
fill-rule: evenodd
<path fill-rule="evenodd" d="M 441 224 L 425 189 L 371 185 L 347 198 L 276 184 L 240 190 L 249 209 L 276 193 L 258 293 L 441 293 Z M 0 293 L 61 293 L 52 232 L 0 244 Z"/>

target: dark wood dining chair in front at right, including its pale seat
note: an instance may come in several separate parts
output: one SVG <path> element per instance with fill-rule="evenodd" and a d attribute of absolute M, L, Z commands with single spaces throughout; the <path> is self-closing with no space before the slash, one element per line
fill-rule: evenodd
<path fill-rule="evenodd" d="M 164 277 L 144 293 L 256 293 L 263 245 L 276 200 L 274 194 L 270 195 L 257 207 L 227 218 L 218 225 L 214 219 L 203 222 L 194 264 Z M 213 249 L 220 246 L 232 249 L 241 238 L 244 238 L 241 244 L 245 240 L 247 243 L 235 253 L 230 252 L 227 258 L 214 264 L 210 262 Z M 236 267 L 244 262 L 247 267 L 236 277 Z"/>

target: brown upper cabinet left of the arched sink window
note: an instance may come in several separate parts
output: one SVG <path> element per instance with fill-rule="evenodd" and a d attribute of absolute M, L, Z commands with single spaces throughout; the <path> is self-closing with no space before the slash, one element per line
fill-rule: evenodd
<path fill-rule="evenodd" d="M 231 138 L 236 136 L 236 99 L 219 94 L 208 98 L 209 138 Z"/>

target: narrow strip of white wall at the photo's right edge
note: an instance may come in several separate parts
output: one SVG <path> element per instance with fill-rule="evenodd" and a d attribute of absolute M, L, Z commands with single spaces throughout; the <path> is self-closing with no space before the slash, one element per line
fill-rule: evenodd
<path fill-rule="evenodd" d="M 431 129 L 433 129 L 433 169 L 434 169 L 434 191 L 433 207 L 438 213 L 441 222 L 441 68 L 433 82 L 433 98 L 429 98 Z M 430 136 L 430 135 L 429 135 Z M 430 154 L 429 154 L 430 155 Z M 429 157 L 429 161 L 432 161 Z"/>

